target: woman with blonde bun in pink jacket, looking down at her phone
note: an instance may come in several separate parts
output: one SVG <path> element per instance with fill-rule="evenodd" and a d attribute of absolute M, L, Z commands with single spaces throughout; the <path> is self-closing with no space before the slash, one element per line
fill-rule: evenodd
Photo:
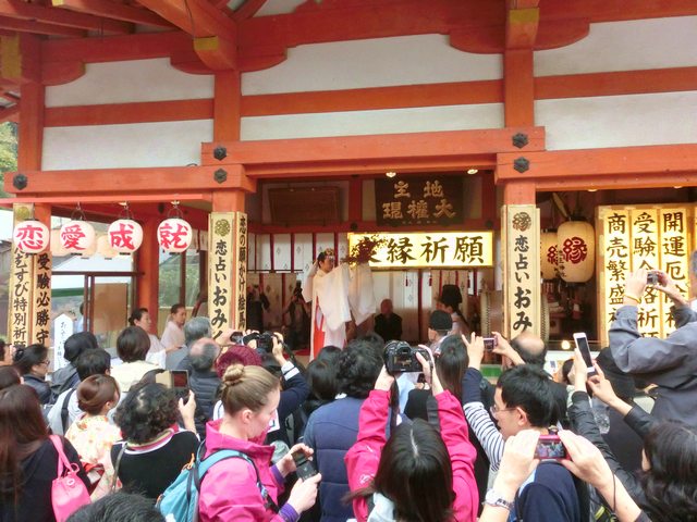
<path fill-rule="evenodd" d="M 221 396 L 224 415 L 206 426 L 206 457 L 219 449 L 236 449 L 254 465 L 230 458 L 208 470 L 200 487 L 200 522 L 297 522 L 301 513 L 315 505 L 319 474 L 306 482 L 298 480 L 288 502 L 280 509 L 276 505 L 284 477 L 295 471 L 291 452 L 302 449 L 308 457 L 313 452 L 307 446 L 296 445 L 271 465 L 273 447 L 264 446 L 262 442 L 279 399 L 278 378 L 261 366 L 234 364 L 225 370 Z M 257 480 L 264 486 L 264 496 Z"/>

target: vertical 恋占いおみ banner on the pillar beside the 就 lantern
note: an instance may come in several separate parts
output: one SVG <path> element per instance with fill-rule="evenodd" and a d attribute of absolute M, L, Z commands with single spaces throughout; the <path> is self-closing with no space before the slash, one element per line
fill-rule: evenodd
<path fill-rule="evenodd" d="M 213 337 L 234 324 L 234 212 L 211 212 L 208 217 L 208 310 Z"/>

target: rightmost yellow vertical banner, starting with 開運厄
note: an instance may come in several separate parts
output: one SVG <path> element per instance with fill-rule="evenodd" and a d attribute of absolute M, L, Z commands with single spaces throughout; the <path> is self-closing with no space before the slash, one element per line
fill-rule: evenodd
<path fill-rule="evenodd" d="M 686 208 L 660 209 L 659 227 L 661 233 L 661 270 L 675 282 L 675 285 L 689 298 L 689 231 Z M 668 298 L 663 296 L 663 335 L 675 330 Z"/>

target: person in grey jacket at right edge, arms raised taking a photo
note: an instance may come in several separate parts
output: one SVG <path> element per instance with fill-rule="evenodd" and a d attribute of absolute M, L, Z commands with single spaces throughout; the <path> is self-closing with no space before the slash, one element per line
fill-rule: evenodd
<path fill-rule="evenodd" d="M 631 273 L 625 282 L 624 301 L 615 312 L 609 338 L 612 358 L 623 372 L 640 375 L 658 386 L 652 414 L 659 420 L 675 419 L 697 427 L 697 322 L 675 283 L 664 272 L 655 271 L 653 287 L 674 303 L 677 330 L 665 339 L 641 337 L 637 315 L 647 287 L 649 271 Z"/>

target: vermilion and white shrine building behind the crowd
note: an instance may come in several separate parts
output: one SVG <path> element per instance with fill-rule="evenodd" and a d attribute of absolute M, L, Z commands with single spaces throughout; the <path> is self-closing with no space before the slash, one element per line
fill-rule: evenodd
<path fill-rule="evenodd" d="M 0 82 L 15 344 L 175 302 L 243 328 L 255 285 L 278 328 L 366 238 L 409 341 L 444 284 L 552 345 L 604 346 L 629 270 L 689 291 L 695 0 L 5 0 Z"/>

